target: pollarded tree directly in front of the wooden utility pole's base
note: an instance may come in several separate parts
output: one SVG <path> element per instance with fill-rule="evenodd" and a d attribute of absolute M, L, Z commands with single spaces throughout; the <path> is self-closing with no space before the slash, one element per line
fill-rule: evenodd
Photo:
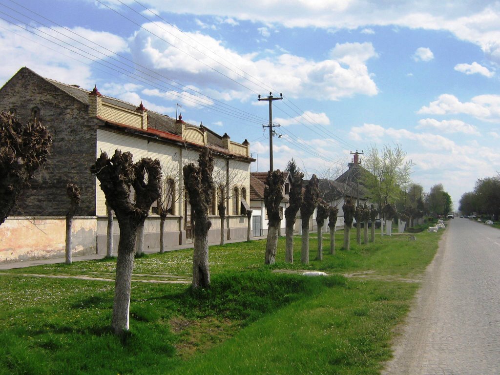
<path fill-rule="evenodd" d="M 279 204 L 283 200 L 283 184 L 285 176 L 279 170 L 267 172 L 264 187 L 264 205 L 267 211 L 267 241 L 265 243 L 265 264 L 274 264 L 276 248 L 278 244 L 279 226 Z"/>

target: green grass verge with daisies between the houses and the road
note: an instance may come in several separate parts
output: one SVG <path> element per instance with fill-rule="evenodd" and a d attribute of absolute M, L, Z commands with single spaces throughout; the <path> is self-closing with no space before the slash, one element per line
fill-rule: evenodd
<path fill-rule="evenodd" d="M 265 241 L 210 247 L 211 287 L 132 283 L 130 334 L 110 329 L 113 282 L 23 274 L 113 278 L 116 259 L 5 271 L 0 293 L 0 374 L 378 373 L 394 325 L 407 312 L 439 235 L 376 237 L 375 243 L 263 265 Z M 135 260 L 134 279 L 190 277 L 192 250 Z M 305 277 L 300 270 L 328 277 Z M 140 274 L 141 276 L 137 276 Z M 359 274 L 362 277 L 345 277 Z M 168 275 L 168 277 L 164 277 Z"/>

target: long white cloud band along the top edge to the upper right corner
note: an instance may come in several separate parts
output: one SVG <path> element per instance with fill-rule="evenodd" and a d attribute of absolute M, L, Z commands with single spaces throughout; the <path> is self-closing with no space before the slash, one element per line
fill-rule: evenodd
<path fill-rule="evenodd" d="M 355 30 L 392 25 L 446 30 L 458 39 L 480 46 L 489 58 L 500 61 L 500 4 L 497 1 L 255 0 L 250 4 L 230 0 L 149 0 L 149 5 L 165 12 L 228 17 L 290 28 Z"/>

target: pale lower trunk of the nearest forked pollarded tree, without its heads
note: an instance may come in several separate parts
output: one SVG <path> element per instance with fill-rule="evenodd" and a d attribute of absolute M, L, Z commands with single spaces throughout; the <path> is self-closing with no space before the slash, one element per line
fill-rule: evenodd
<path fill-rule="evenodd" d="M 116 259 L 116 278 L 114 283 L 113 313 L 111 327 L 114 333 L 121 334 L 129 329 L 130 285 L 132 281 L 134 244 L 137 226 L 132 223 L 120 224 L 118 256 Z"/>

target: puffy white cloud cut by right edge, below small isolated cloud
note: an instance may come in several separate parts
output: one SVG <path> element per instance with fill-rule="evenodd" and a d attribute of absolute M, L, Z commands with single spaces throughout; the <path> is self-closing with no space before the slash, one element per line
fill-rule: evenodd
<path fill-rule="evenodd" d="M 420 114 L 468 114 L 484 121 L 500 121 L 500 95 L 477 95 L 468 102 L 460 102 L 451 94 L 441 94 L 428 106 L 422 106 Z"/>

